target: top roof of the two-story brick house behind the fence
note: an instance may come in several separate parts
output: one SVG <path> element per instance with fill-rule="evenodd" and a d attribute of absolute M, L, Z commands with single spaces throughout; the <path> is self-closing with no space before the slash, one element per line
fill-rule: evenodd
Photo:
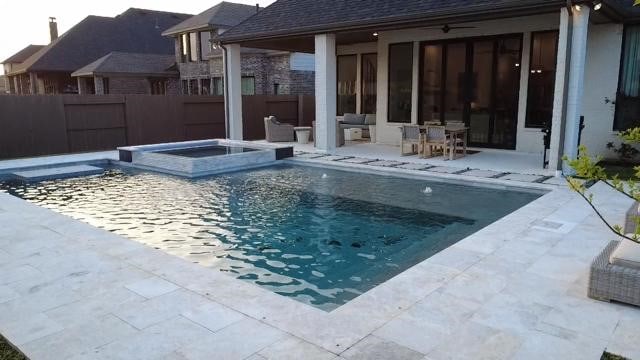
<path fill-rule="evenodd" d="M 169 28 L 162 35 L 170 36 L 206 28 L 230 28 L 255 15 L 255 6 L 222 1 L 218 5 Z"/>

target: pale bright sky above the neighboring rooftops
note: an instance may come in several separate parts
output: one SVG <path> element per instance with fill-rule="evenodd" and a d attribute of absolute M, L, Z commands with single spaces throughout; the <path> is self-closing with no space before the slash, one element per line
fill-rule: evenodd
<path fill-rule="evenodd" d="M 273 0 L 231 0 L 244 4 L 267 6 Z M 0 61 L 29 44 L 49 43 L 49 17 L 58 20 L 63 34 L 88 15 L 115 16 L 130 7 L 198 14 L 219 0 L 17 0 L 3 1 L 0 21 Z M 0 74 L 2 70 L 0 69 Z"/>

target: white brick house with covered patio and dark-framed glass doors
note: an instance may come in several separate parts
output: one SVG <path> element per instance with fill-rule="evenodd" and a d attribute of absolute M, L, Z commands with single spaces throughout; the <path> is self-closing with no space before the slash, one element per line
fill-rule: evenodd
<path fill-rule="evenodd" d="M 632 2 L 276 1 L 219 39 L 231 136 L 242 138 L 240 48 L 268 47 L 314 54 L 322 151 L 335 148 L 337 115 L 375 112 L 386 144 L 399 143 L 403 124 L 463 121 L 472 146 L 546 151 L 550 169 L 579 143 L 606 155 L 640 121 Z"/>

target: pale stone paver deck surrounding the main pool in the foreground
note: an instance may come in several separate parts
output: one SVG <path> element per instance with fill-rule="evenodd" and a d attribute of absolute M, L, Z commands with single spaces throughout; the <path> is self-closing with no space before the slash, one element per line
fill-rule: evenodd
<path fill-rule="evenodd" d="M 640 358 L 640 309 L 586 297 L 612 235 L 531 186 L 551 192 L 329 313 L 0 193 L 0 334 L 32 360 Z M 629 200 L 592 191 L 621 222 Z"/>

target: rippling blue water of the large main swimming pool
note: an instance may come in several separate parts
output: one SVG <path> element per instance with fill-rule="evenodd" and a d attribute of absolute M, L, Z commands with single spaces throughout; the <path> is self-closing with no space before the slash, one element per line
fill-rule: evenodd
<path fill-rule="evenodd" d="M 0 189 L 327 311 L 540 196 L 292 165 Z"/>

